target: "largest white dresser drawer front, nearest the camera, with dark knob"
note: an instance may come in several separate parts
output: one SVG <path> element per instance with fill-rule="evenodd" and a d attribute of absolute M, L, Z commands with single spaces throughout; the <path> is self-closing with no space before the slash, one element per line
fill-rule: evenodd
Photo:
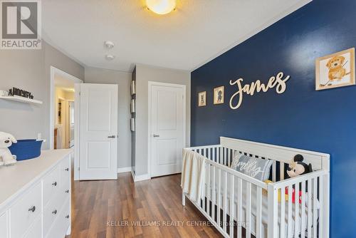
<path fill-rule="evenodd" d="M 23 237 L 42 212 L 41 182 L 32 187 L 10 208 L 11 238 Z"/>

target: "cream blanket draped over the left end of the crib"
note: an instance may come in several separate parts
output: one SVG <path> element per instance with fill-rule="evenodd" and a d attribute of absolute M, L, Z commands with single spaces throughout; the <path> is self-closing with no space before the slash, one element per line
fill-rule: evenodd
<path fill-rule="evenodd" d="M 190 200 L 201 199 L 206 158 L 192 150 L 183 149 L 183 167 L 181 187 Z"/>

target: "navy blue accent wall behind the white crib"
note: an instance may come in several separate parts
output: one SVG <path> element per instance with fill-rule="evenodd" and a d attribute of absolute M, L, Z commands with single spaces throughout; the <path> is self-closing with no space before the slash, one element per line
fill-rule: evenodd
<path fill-rule="evenodd" d="M 356 86 L 315 91 L 315 58 L 354 46 L 356 1 L 315 0 L 192 72 L 192 146 L 228 136 L 330 153 L 333 238 L 356 233 Z M 290 75 L 285 93 L 244 95 L 229 108 L 230 80 L 267 82 L 279 71 Z M 216 86 L 224 105 L 213 105 Z"/>

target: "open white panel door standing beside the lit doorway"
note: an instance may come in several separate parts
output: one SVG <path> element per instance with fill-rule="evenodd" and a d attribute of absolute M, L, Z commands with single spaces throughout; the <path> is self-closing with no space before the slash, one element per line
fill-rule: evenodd
<path fill-rule="evenodd" d="M 80 84 L 80 180 L 117 179 L 117 85 Z"/>

